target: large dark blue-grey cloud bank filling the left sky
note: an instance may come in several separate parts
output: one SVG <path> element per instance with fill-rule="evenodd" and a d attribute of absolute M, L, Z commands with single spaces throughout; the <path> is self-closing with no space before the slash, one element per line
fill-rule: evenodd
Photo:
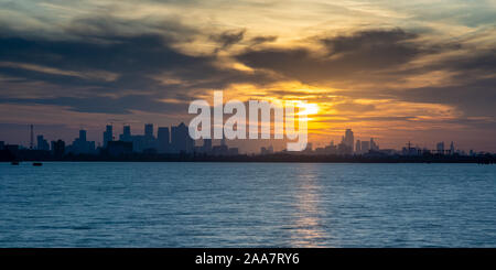
<path fill-rule="evenodd" d="M 215 54 L 194 56 L 173 48 L 177 40 L 173 33 L 174 29 L 181 29 L 179 25 L 169 26 L 161 34 L 132 35 L 120 33 L 119 29 L 126 26 L 120 24 L 112 20 L 78 20 L 66 28 L 68 36 L 77 36 L 68 40 L 21 37 L 13 32 L 0 35 L 0 76 L 12 78 L 9 89 L 2 87 L 0 95 L 9 98 L 14 84 L 43 82 L 65 88 L 63 96 L 28 98 L 25 102 L 68 105 L 86 112 L 128 114 L 130 109 L 153 111 L 159 106 L 171 106 L 154 101 L 160 98 L 191 100 L 190 94 L 197 89 L 222 89 L 233 83 L 270 79 L 260 72 L 247 74 L 223 69 L 215 64 Z M 187 31 L 184 34 L 187 35 Z M 219 39 L 223 46 L 228 46 L 242 35 L 244 31 L 224 33 Z M 160 80 L 164 74 L 184 83 L 164 85 Z M 4 83 L 0 82 L 6 86 Z M 36 87 L 46 85 L 37 84 Z M 51 96 L 50 88 L 37 93 L 43 90 Z M 141 107 L 136 108 L 132 98 L 125 93 L 138 93 L 133 98 Z M 122 97 L 110 99 L 109 94 Z M 149 97 L 144 98 L 147 95 Z"/>

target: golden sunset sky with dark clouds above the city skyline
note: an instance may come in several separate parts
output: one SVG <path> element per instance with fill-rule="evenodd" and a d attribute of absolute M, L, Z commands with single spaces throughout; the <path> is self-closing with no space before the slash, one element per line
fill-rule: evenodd
<path fill-rule="evenodd" d="M 496 152 L 496 0 L 0 0 L 0 140 L 187 123 L 219 89 L 316 104 L 314 147 Z"/>

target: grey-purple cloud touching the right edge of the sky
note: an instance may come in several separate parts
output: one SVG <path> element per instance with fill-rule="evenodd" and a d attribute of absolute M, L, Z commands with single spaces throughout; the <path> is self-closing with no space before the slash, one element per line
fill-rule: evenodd
<path fill-rule="evenodd" d="M 436 47 L 439 50 L 439 47 Z M 382 89 L 381 93 L 396 99 L 413 102 L 445 104 L 456 107 L 467 117 L 496 116 L 496 50 L 475 50 L 451 45 L 446 50 L 457 54 L 427 63 L 419 68 L 390 72 L 390 76 L 403 77 L 431 72 L 452 74 L 445 84 L 406 89 Z M 435 80 L 435 77 L 433 78 Z M 473 122 L 473 121 L 471 121 Z"/>

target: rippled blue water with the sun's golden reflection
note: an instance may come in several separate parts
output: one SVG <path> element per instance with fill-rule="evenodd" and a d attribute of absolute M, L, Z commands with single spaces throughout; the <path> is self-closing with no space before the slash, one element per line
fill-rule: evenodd
<path fill-rule="evenodd" d="M 496 166 L 0 163 L 0 247 L 496 247 Z"/>

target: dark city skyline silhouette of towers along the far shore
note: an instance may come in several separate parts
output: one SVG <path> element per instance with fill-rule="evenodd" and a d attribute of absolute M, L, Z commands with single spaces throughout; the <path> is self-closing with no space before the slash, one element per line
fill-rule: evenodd
<path fill-rule="evenodd" d="M 85 129 L 80 129 L 78 131 L 78 137 L 72 141 L 65 141 L 61 138 L 50 140 L 43 134 L 35 133 L 33 125 L 29 126 L 29 131 L 31 138 L 29 145 L 14 144 L 0 140 L 0 150 L 7 147 L 13 147 L 19 149 L 51 151 L 52 153 L 62 151 L 62 153 L 56 155 L 64 155 L 67 153 L 98 155 L 105 151 L 125 151 L 123 149 L 126 149 L 125 152 L 127 153 L 201 153 L 213 155 L 237 155 L 247 153 L 273 154 L 277 152 L 287 151 L 282 144 L 276 144 L 278 140 L 274 139 L 273 133 L 271 134 L 271 139 L 259 139 L 258 141 L 261 142 L 261 144 L 258 144 L 257 149 L 254 149 L 254 147 L 248 147 L 240 150 L 236 147 L 236 144 L 233 147 L 233 142 L 242 141 L 239 139 L 228 140 L 224 138 L 222 140 L 193 140 L 188 133 L 188 128 L 184 122 L 170 127 L 155 127 L 153 123 L 145 123 L 143 127 L 143 133 L 132 132 L 130 125 L 122 125 L 121 131 L 115 130 L 114 125 L 107 125 L 105 130 L 101 131 L 100 141 L 88 140 L 87 130 Z M 257 140 L 249 139 L 246 141 L 252 142 Z M 63 150 L 56 150 L 57 144 L 63 144 Z M 274 148 L 274 144 L 278 147 Z M 112 150 L 114 148 L 117 148 L 117 150 Z M 384 155 L 421 155 L 423 153 L 435 153 L 442 155 L 475 155 L 477 153 L 490 153 L 488 151 L 474 151 L 473 149 L 465 151 L 455 148 L 454 141 L 435 142 L 433 147 L 420 147 L 418 143 L 408 141 L 406 147 L 400 149 L 381 149 L 374 138 L 364 140 L 363 137 L 355 137 L 352 129 L 345 130 L 341 141 L 331 140 L 330 144 L 325 145 L 314 145 L 313 142 L 309 142 L 306 149 L 294 153 L 299 152 L 303 154 L 321 155 L 363 155 L 368 154 L 369 152 L 381 153 Z M 115 153 L 115 155 L 118 154 L 120 153 Z"/>

